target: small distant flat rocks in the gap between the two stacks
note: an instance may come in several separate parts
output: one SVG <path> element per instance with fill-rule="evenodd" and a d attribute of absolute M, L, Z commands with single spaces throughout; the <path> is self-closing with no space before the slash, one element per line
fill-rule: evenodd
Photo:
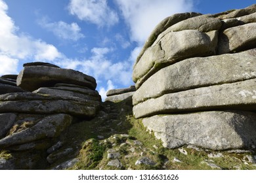
<path fill-rule="evenodd" d="M 114 90 L 108 90 L 106 93 L 107 97 L 105 101 L 119 102 L 125 99 L 131 98 L 135 93 L 135 86 L 130 86 L 129 88 L 120 88 Z"/>

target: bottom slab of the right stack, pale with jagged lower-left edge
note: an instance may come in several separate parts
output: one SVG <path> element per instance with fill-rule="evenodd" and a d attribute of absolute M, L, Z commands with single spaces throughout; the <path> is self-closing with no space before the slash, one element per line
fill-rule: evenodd
<path fill-rule="evenodd" d="M 194 144 L 213 150 L 252 148 L 256 145 L 256 114 L 209 111 L 152 116 L 142 120 L 167 148 Z M 173 143 L 180 142 L 180 143 Z"/>

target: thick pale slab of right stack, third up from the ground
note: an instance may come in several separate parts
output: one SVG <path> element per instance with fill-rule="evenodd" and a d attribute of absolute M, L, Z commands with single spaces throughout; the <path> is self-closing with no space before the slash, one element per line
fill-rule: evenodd
<path fill-rule="evenodd" d="M 256 78 L 256 49 L 184 59 L 152 75 L 133 95 L 133 105 L 166 93 Z"/>

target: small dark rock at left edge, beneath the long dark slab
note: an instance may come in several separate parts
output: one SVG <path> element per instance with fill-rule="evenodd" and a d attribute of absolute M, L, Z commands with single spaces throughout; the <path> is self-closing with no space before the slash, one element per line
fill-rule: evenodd
<path fill-rule="evenodd" d="M 0 139 L 5 137 L 9 129 L 16 120 L 17 115 L 14 113 L 0 114 Z"/>

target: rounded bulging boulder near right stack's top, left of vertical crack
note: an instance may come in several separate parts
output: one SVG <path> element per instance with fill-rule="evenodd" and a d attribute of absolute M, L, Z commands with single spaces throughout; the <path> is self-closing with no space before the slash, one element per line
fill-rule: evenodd
<path fill-rule="evenodd" d="M 217 49 L 217 35 L 217 31 L 202 33 L 198 30 L 167 33 L 144 52 L 133 68 L 136 88 L 138 89 L 147 78 L 167 65 L 186 58 L 214 55 Z"/>

